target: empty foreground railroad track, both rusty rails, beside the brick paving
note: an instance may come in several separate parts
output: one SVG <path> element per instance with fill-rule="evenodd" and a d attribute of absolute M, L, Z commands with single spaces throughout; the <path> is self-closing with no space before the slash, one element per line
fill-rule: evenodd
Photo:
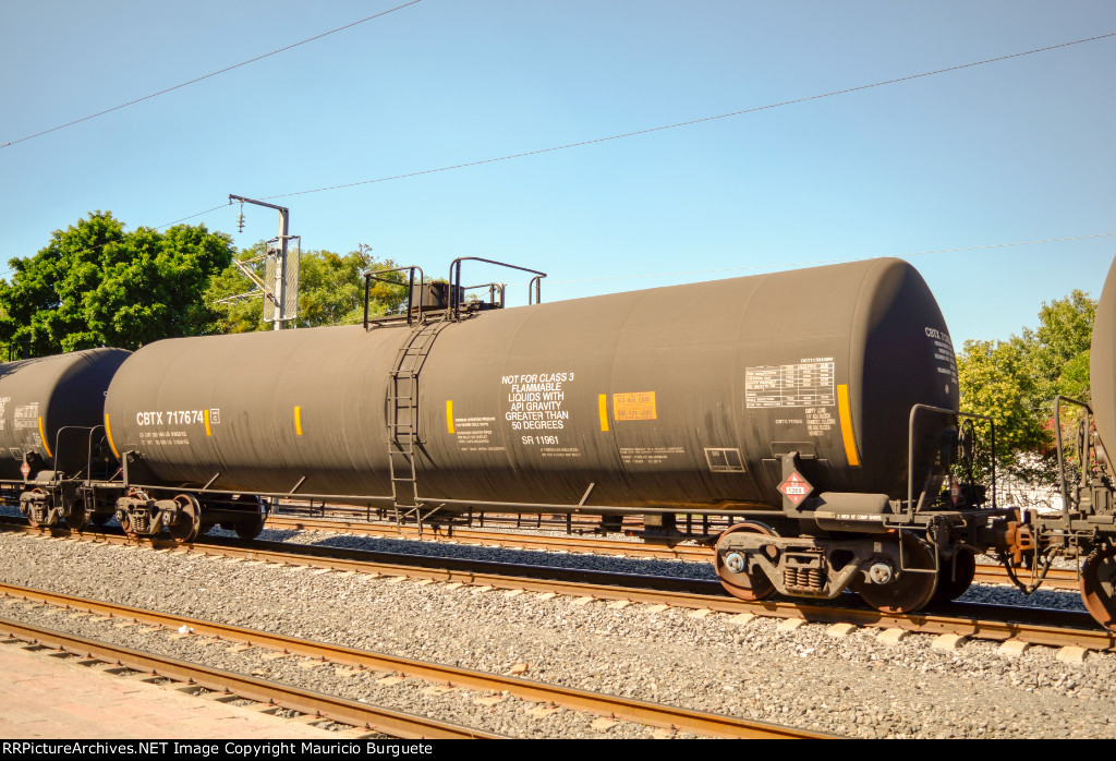
<path fill-rule="evenodd" d="M 181 630 L 185 627 L 194 636 L 214 637 L 225 643 L 262 647 L 277 653 L 297 655 L 302 658 L 320 661 L 336 666 L 403 674 L 437 684 L 452 685 L 456 688 L 507 692 L 523 701 L 549 703 L 575 711 L 623 719 L 650 726 L 694 732 L 705 736 L 747 739 L 819 739 L 829 736 L 816 732 L 751 722 L 732 716 L 702 713 L 658 703 L 648 703 L 573 687 L 531 682 L 512 676 L 456 666 L 444 666 L 340 645 L 288 637 L 215 622 L 174 616 L 112 603 L 99 603 L 45 590 L 0 584 L 0 595 L 12 600 L 41 603 L 62 607 L 70 611 L 116 618 L 121 622 L 158 626 L 167 632 Z M 192 681 L 210 690 L 230 692 L 248 700 L 273 702 L 301 713 L 317 714 L 338 723 L 364 726 L 371 731 L 378 731 L 392 734 L 393 736 L 406 739 L 494 739 L 501 736 L 422 716 L 413 716 L 397 711 L 369 706 L 357 701 L 311 693 L 306 690 L 291 687 L 290 685 L 266 682 L 228 671 L 189 664 L 151 653 L 136 653 L 117 645 L 99 643 L 7 619 L 0 619 L 0 630 L 21 639 L 33 640 L 68 653 L 86 655 L 102 661 L 118 662 L 128 668 L 157 673 L 161 676 L 175 681 Z"/>

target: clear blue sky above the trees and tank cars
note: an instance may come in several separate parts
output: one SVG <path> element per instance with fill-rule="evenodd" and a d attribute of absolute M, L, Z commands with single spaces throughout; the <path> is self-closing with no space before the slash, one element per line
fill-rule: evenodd
<path fill-rule="evenodd" d="M 0 144 L 404 1 L 9 2 Z M 477 162 L 1110 32 L 1112 0 L 422 0 L 0 147 L 0 260 L 93 210 L 156 227 L 229 193 Z M 1114 71 L 1116 37 L 272 202 L 290 206 L 304 248 L 367 243 L 443 277 L 454 257 L 506 260 L 550 274 L 545 300 L 1116 233 Z M 238 211 L 190 221 L 246 247 L 275 234 L 258 208 L 237 233 Z M 1114 256 L 1116 235 L 908 259 L 960 345 L 1033 326 L 1074 288 L 1098 296 Z"/>

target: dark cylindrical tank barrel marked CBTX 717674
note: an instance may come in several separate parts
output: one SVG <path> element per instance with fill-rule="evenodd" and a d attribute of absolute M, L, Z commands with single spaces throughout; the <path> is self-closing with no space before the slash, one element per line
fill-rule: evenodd
<path fill-rule="evenodd" d="M 912 404 L 956 407 L 943 341 L 917 272 L 879 260 L 415 329 L 158 341 L 117 374 L 106 413 L 136 472 L 220 472 L 222 491 L 305 479 L 324 497 L 552 510 L 595 482 L 587 507 L 778 509 L 775 452 L 792 444 L 826 490 L 898 499 Z M 933 455 L 916 451 L 916 469 Z"/>

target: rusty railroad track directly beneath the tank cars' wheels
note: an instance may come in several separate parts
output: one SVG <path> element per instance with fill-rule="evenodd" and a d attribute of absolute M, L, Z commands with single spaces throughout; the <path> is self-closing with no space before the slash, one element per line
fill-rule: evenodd
<path fill-rule="evenodd" d="M 20 528 L 3 523 L 4 528 Z M 29 533 L 40 529 L 22 527 Z M 1031 645 L 1116 649 L 1116 633 L 1100 628 L 1086 613 L 1019 608 L 982 604 L 951 604 L 915 614 L 884 614 L 876 609 L 820 601 L 745 601 L 728 596 L 716 581 L 612 574 L 568 568 L 540 568 L 368 552 L 336 550 L 282 542 L 212 542 L 177 545 L 171 540 L 129 539 L 123 534 L 83 533 L 81 540 L 143 545 L 180 552 L 221 555 L 288 566 L 405 577 L 492 589 L 551 593 L 586 600 L 643 603 L 733 616 L 801 618 L 814 623 L 847 623 L 875 628 L 899 628 L 923 634 L 952 634 L 993 642 L 1017 639 Z"/>

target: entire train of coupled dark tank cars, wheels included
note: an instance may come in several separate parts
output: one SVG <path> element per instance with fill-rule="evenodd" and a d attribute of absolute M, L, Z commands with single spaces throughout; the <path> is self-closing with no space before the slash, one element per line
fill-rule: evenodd
<path fill-rule="evenodd" d="M 646 541 L 710 545 L 737 597 L 852 589 L 888 613 L 958 597 L 978 553 L 1028 591 L 1070 558 L 1116 629 L 1116 267 L 1093 335 L 1095 425 L 1051 401 L 1084 410 L 1062 468 L 1079 479 L 1039 512 L 999 504 L 994 469 L 977 482 L 994 433 L 977 446 L 945 321 L 904 261 L 546 305 L 527 270 L 530 304 L 507 309 L 499 283 L 464 298 L 462 261 L 450 282 L 402 268 L 406 308 L 363 325 L 0 365 L 0 491 L 33 524 L 115 517 L 183 542 L 214 524 L 256 537 L 283 498 L 426 523 L 637 516 Z"/>

